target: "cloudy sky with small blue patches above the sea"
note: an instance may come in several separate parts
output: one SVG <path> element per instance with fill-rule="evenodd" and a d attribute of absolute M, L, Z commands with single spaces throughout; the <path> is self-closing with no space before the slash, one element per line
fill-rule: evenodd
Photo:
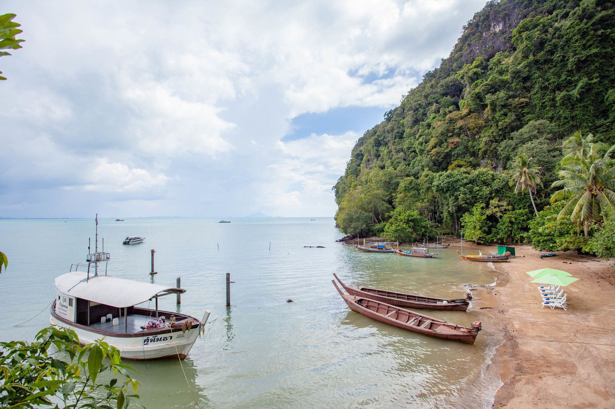
<path fill-rule="evenodd" d="M 333 216 L 484 2 L 2 1 L 0 216 Z"/>

